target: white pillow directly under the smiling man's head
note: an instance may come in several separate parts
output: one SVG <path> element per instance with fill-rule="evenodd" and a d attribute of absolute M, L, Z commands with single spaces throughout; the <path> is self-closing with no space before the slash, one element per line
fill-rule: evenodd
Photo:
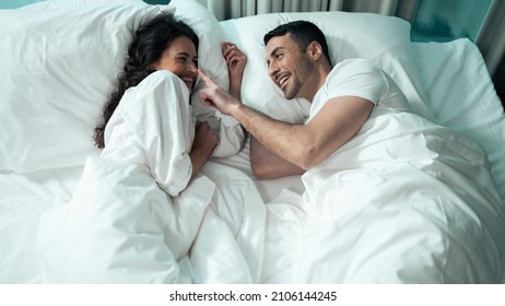
<path fill-rule="evenodd" d="M 280 24 L 295 20 L 310 21 L 321 28 L 333 64 L 356 57 L 373 60 L 402 89 L 413 111 L 431 118 L 411 59 L 410 24 L 398 17 L 371 13 L 275 13 L 220 22 L 228 39 L 248 56 L 242 89 L 245 104 L 290 122 L 302 122 L 307 116 L 307 102 L 286 102 L 267 75 L 265 60 L 265 34 Z"/>

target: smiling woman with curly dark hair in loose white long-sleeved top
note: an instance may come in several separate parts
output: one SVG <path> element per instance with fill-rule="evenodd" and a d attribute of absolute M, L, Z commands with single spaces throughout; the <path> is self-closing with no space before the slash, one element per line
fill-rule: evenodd
<path fill-rule="evenodd" d="M 187 186 L 219 143 L 208 122 L 196 122 L 189 105 L 198 43 L 191 27 L 172 15 L 141 24 L 94 133 L 102 157 L 146 165 L 171 196 Z M 230 43 L 223 56 L 231 93 L 239 96 L 247 58 Z"/>

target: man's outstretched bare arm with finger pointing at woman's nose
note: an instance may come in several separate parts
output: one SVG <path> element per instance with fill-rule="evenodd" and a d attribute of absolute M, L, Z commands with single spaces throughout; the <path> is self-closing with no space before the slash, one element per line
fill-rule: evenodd
<path fill-rule="evenodd" d="M 292 125 L 243 105 L 199 72 L 209 86 L 200 91 L 202 104 L 235 117 L 269 151 L 303 169 L 319 164 L 348 142 L 374 107 L 371 101 L 357 96 L 333 97 L 307 125 Z"/>

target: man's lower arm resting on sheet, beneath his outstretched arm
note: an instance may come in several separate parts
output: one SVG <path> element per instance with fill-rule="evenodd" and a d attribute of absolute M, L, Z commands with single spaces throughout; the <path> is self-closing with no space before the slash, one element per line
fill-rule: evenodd
<path fill-rule="evenodd" d="M 301 175 L 305 170 L 279 157 L 250 137 L 250 167 L 256 177 L 271 179 L 289 175 Z"/>

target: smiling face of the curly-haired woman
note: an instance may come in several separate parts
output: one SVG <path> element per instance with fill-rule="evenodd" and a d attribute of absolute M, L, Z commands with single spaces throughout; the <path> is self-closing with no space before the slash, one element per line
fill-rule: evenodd
<path fill-rule="evenodd" d="M 184 81 L 191 93 L 198 75 L 198 55 L 195 44 L 186 36 L 175 38 L 153 68 L 172 71 Z"/>

